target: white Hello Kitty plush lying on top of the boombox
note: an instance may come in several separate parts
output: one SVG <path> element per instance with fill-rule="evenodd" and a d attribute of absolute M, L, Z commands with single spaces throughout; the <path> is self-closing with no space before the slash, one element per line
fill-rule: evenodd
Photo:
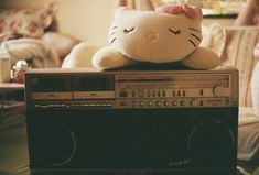
<path fill-rule="evenodd" d="M 109 43 L 93 57 L 99 69 L 129 66 L 139 62 L 179 62 L 196 69 L 219 65 L 219 56 L 199 47 L 202 12 L 186 4 L 138 11 L 126 7 L 116 10 Z"/>

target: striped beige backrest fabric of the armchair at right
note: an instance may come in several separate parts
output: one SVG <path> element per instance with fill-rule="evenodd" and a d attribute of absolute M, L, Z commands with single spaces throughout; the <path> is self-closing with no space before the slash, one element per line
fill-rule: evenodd
<path fill-rule="evenodd" d="M 253 48 L 259 42 L 258 28 L 227 28 L 226 43 L 222 55 L 223 64 L 235 66 L 239 70 L 239 105 L 251 107 L 251 75 L 257 58 Z"/>

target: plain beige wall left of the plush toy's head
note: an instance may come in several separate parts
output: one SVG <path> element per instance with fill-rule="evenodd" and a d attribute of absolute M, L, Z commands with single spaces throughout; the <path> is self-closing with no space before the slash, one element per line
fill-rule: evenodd
<path fill-rule="evenodd" d="M 4 8 L 44 7 L 53 0 L 0 0 Z M 58 31 L 86 42 L 107 44 L 115 0 L 56 0 Z"/>

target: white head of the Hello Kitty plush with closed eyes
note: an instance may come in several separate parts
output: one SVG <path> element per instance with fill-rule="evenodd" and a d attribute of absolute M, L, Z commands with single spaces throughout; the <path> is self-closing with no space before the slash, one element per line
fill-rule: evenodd
<path fill-rule="evenodd" d="M 195 19 L 118 8 L 109 43 L 121 54 L 140 62 L 168 63 L 192 54 L 202 41 L 202 13 Z"/>

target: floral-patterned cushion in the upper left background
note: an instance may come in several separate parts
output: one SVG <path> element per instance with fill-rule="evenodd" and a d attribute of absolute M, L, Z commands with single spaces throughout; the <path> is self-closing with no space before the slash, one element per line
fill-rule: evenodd
<path fill-rule="evenodd" d="M 0 9 L 0 37 L 10 34 L 41 37 L 51 25 L 56 11 L 56 3 L 50 3 L 44 9 Z"/>

